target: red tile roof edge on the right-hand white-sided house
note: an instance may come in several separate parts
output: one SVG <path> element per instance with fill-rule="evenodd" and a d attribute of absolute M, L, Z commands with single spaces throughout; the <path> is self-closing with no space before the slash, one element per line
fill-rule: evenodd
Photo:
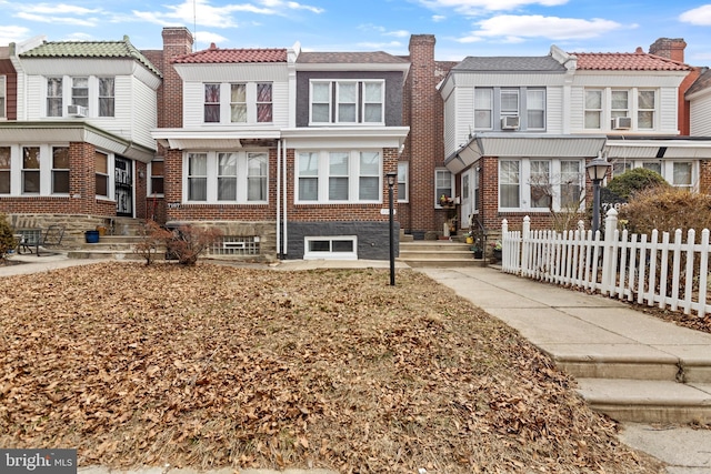
<path fill-rule="evenodd" d="M 690 71 L 683 62 L 649 54 L 638 48 L 635 52 L 571 52 L 578 58 L 578 70 L 589 71 Z"/>

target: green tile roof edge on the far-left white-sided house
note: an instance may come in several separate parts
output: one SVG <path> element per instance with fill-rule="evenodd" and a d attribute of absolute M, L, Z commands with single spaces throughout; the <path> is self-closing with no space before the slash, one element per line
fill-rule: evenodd
<path fill-rule="evenodd" d="M 157 75 L 162 77 L 160 70 L 131 44 L 128 36 L 124 36 L 122 41 L 44 41 L 39 47 L 21 53 L 20 58 L 134 59 Z"/>

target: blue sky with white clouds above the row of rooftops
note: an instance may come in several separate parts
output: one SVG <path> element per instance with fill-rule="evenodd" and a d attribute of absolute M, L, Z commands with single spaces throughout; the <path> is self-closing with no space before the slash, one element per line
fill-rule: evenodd
<path fill-rule="evenodd" d="M 186 27 L 194 50 L 291 48 L 407 54 L 411 34 L 434 34 L 435 59 L 649 51 L 683 38 L 685 62 L 711 65 L 711 0 L 0 0 L 0 46 L 121 40 L 161 49 L 163 27 Z"/>

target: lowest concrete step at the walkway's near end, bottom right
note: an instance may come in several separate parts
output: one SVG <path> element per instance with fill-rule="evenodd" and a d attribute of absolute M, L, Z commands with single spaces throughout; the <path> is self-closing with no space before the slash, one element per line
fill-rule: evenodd
<path fill-rule="evenodd" d="M 711 423 L 711 384 L 629 379 L 578 379 L 578 393 L 620 422 Z"/>

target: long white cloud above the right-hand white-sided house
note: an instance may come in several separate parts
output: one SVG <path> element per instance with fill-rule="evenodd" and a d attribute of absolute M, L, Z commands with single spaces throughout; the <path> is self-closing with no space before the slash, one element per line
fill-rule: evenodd
<path fill-rule="evenodd" d="M 532 16 L 502 14 L 477 22 L 479 30 L 460 38 L 458 41 L 468 43 L 481 41 L 484 38 L 502 38 L 507 42 L 520 42 L 523 38 L 545 38 L 550 40 L 587 39 L 603 36 L 622 28 L 622 24 L 594 18 L 583 20 L 577 18 L 558 18 Z M 634 28 L 634 26 L 629 26 Z"/>

